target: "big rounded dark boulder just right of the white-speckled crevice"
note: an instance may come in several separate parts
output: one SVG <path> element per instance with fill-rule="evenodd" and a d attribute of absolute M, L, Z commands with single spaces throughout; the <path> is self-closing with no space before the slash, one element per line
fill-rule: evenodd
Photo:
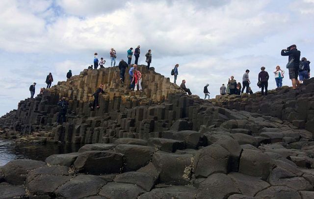
<path fill-rule="evenodd" d="M 196 177 L 208 177 L 212 173 L 228 173 L 230 153 L 222 146 L 211 144 L 195 155 L 193 170 Z"/>

